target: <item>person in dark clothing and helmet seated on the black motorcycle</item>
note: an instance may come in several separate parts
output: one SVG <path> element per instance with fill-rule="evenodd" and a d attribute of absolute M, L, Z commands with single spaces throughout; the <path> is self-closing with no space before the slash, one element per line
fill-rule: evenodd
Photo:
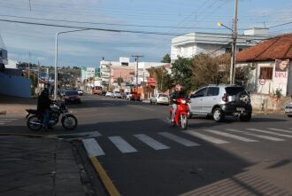
<path fill-rule="evenodd" d="M 53 103 L 54 101 L 49 98 L 49 89 L 45 88 L 42 90 L 41 95 L 37 99 L 37 111 L 42 114 L 42 123 L 44 124 L 45 129 L 50 128 L 50 105 Z"/>

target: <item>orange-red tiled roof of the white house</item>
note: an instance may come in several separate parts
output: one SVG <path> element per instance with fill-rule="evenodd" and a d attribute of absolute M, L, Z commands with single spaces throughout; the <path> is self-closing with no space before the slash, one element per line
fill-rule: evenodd
<path fill-rule="evenodd" d="M 292 59 L 292 34 L 279 35 L 258 43 L 236 55 L 236 62 Z"/>

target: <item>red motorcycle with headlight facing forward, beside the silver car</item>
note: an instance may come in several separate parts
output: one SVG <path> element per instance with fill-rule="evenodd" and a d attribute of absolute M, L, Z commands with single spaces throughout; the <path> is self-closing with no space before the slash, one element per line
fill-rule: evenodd
<path fill-rule="evenodd" d="M 174 122 L 171 121 L 172 127 L 181 126 L 182 129 L 188 128 L 188 99 L 176 99 L 177 109 L 174 117 Z M 170 120 L 172 120 L 173 106 L 170 107 Z"/>

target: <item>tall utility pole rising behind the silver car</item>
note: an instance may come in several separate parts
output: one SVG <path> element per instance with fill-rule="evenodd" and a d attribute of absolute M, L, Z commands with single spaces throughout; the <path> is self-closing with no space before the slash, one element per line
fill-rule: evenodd
<path fill-rule="evenodd" d="M 235 54 L 236 54 L 236 39 L 237 39 L 237 5 L 238 0 L 234 4 L 234 24 L 233 24 L 233 44 L 232 44 L 232 58 L 230 66 L 230 84 L 235 84 Z"/>

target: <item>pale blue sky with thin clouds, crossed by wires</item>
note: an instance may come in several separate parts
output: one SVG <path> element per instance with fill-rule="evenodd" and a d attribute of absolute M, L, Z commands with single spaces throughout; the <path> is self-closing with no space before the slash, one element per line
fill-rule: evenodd
<path fill-rule="evenodd" d="M 239 0 L 238 34 L 250 27 L 269 27 L 270 35 L 291 33 L 291 8 L 291 0 Z M 9 59 L 53 66 L 58 32 L 114 30 L 58 35 L 58 66 L 98 67 L 103 57 L 143 55 L 140 61 L 159 62 L 170 53 L 174 35 L 230 34 L 217 23 L 232 27 L 233 18 L 234 0 L 10 0 L 0 5 L 0 20 L 10 20 L 0 21 L 0 35 Z"/>

